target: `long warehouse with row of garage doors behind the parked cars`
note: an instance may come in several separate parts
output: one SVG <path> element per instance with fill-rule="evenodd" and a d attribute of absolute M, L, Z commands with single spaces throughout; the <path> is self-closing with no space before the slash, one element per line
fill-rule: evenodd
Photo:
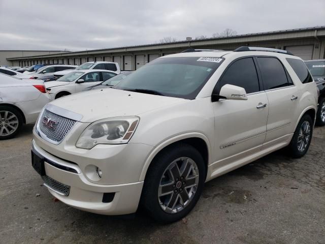
<path fill-rule="evenodd" d="M 233 50 L 240 46 L 288 50 L 303 59 L 325 58 L 325 26 L 203 40 L 186 38 L 185 41 L 164 44 L 8 57 L 7 61 L 11 62 L 12 66 L 30 66 L 45 63 L 80 65 L 91 61 L 110 61 L 117 62 L 121 70 L 136 70 L 159 56 L 178 53 L 189 48 Z"/>

